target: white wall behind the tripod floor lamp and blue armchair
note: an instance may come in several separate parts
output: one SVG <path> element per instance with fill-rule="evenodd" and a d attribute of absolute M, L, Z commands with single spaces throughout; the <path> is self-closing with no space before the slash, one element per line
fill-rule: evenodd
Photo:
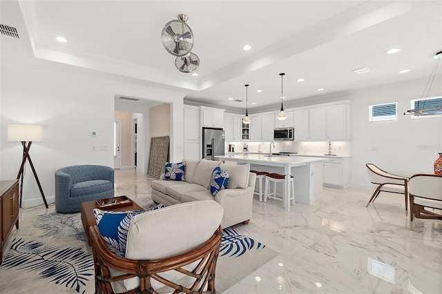
<path fill-rule="evenodd" d="M 171 126 L 182 126 L 183 95 L 180 93 L 2 60 L 0 179 L 15 179 L 21 164 L 21 144 L 7 141 L 8 124 L 43 126 L 43 141 L 32 144 L 30 155 L 50 203 L 55 202 L 54 173 L 58 168 L 76 164 L 113 166 L 114 97 L 117 93 L 172 103 L 173 109 L 178 109 L 181 115 L 171 116 Z M 144 121 L 145 127 L 146 124 L 148 119 Z M 97 132 L 97 137 L 90 136 L 92 130 Z M 175 136 L 174 142 L 182 142 L 182 132 L 171 132 L 171 136 Z M 92 145 L 107 146 L 107 150 L 93 151 Z M 148 148 L 144 147 L 148 154 Z M 171 160 L 181 159 L 181 143 L 171 144 Z M 43 203 L 28 164 L 22 201 L 23 207 Z"/>

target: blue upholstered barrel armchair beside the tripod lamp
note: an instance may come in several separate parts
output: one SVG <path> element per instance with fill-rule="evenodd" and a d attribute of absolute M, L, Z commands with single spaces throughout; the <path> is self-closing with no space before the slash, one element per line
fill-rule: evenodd
<path fill-rule="evenodd" d="M 59 213 L 77 213 L 81 202 L 106 197 L 114 197 L 111 167 L 68 166 L 55 172 L 55 210 Z"/>

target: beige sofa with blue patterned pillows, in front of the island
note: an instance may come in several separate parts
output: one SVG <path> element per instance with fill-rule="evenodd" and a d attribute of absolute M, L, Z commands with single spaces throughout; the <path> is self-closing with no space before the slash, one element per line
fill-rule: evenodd
<path fill-rule="evenodd" d="M 206 159 L 183 159 L 185 182 L 160 179 L 152 182 L 152 199 L 165 206 L 198 200 L 215 200 L 224 209 L 221 226 L 227 228 L 251 219 L 253 190 L 256 174 L 250 173 L 250 165 L 220 164 L 220 161 Z M 210 192 L 213 169 L 220 166 L 229 172 L 227 188 L 220 190 L 215 197 Z"/>

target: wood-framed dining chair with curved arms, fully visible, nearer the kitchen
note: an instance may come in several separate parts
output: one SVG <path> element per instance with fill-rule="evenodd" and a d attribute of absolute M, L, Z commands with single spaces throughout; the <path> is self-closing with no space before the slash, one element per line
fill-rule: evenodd
<path fill-rule="evenodd" d="M 376 187 L 372 197 L 367 203 L 374 202 L 381 192 L 403 194 L 405 198 L 405 215 L 408 212 L 408 178 L 392 175 L 374 164 L 365 164 L 367 166 L 370 182 Z"/>

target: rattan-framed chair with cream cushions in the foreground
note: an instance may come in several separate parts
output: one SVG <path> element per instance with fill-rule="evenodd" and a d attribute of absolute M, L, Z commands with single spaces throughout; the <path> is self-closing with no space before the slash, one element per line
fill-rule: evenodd
<path fill-rule="evenodd" d="M 214 201 L 136 215 L 128 231 L 126 258 L 109 251 L 98 227 L 90 227 L 95 293 L 215 293 L 222 215 Z M 150 235 L 161 231 L 157 237 Z"/>

